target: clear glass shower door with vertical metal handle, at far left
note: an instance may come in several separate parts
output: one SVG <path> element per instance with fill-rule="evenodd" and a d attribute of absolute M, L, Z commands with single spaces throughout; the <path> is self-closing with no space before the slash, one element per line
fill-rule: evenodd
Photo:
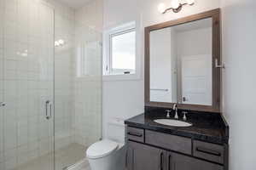
<path fill-rule="evenodd" d="M 54 10 L 23 0 L 0 8 L 0 169 L 53 170 Z"/>

